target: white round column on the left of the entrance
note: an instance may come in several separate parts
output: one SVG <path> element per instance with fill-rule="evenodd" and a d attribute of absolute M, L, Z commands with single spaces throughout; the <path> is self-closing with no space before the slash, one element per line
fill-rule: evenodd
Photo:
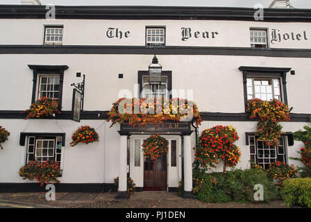
<path fill-rule="evenodd" d="M 128 136 L 120 135 L 119 144 L 119 189 L 118 191 L 127 191 L 127 142 Z"/>

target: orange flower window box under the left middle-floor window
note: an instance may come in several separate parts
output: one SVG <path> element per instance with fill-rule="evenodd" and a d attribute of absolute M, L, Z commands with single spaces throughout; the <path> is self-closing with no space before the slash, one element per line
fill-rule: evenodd
<path fill-rule="evenodd" d="M 35 103 L 31 104 L 28 110 L 22 113 L 27 114 L 25 119 L 55 116 L 56 113 L 60 114 L 58 100 L 42 96 Z"/>

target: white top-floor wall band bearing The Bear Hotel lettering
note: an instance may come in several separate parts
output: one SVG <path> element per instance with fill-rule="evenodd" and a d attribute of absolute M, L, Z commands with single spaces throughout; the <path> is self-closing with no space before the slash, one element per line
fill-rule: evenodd
<path fill-rule="evenodd" d="M 250 47 L 249 28 L 267 28 L 269 37 L 272 29 L 278 29 L 283 36 L 294 33 L 295 40 L 282 40 L 270 44 L 271 48 L 311 48 L 310 23 L 278 23 L 278 22 L 242 22 L 242 21 L 202 21 L 202 20 L 96 20 L 96 19 L 1 19 L 0 44 L 43 44 L 44 25 L 64 26 L 64 45 L 131 45 L 144 46 L 145 26 L 165 26 L 167 46 L 235 46 Z M 108 28 L 118 28 L 129 37 L 108 38 Z M 191 28 L 192 37 L 181 40 L 181 28 Z M 194 32 L 217 31 L 215 39 L 195 38 Z M 303 31 L 307 39 L 304 40 Z M 211 33 L 210 33 L 211 34 Z M 301 40 L 296 40 L 300 34 Z M 123 34 L 124 35 L 124 34 Z"/>

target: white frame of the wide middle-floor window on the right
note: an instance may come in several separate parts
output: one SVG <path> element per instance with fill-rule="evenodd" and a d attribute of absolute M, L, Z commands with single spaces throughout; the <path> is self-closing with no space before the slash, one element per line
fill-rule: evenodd
<path fill-rule="evenodd" d="M 256 94 L 260 94 L 260 98 L 258 99 L 262 99 L 261 94 L 265 94 L 267 97 L 267 87 L 265 85 L 255 85 L 255 81 L 271 81 L 271 99 L 278 99 L 279 101 L 283 101 L 283 90 L 282 90 L 282 85 L 281 85 L 281 78 L 265 78 L 265 77 L 247 77 L 246 78 L 246 95 L 247 95 L 247 99 L 255 99 L 258 98 L 256 96 Z M 275 83 L 275 80 L 278 81 L 278 86 Z M 255 86 L 260 87 L 260 93 L 255 92 Z M 266 92 L 262 92 L 262 87 L 264 87 L 264 90 L 266 90 Z M 279 94 L 276 94 L 276 89 L 278 89 Z M 262 100 L 266 100 L 269 101 L 269 99 L 262 99 Z"/>

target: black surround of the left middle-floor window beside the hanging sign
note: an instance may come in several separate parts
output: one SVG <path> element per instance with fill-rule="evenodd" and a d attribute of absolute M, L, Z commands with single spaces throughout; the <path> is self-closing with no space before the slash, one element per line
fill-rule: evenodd
<path fill-rule="evenodd" d="M 33 70 L 33 94 L 31 103 L 35 102 L 35 94 L 37 92 L 37 77 L 39 74 L 59 74 L 60 75 L 60 88 L 58 94 L 58 110 L 62 109 L 62 85 L 64 82 L 64 71 L 69 67 L 67 65 L 28 65 Z"/>

